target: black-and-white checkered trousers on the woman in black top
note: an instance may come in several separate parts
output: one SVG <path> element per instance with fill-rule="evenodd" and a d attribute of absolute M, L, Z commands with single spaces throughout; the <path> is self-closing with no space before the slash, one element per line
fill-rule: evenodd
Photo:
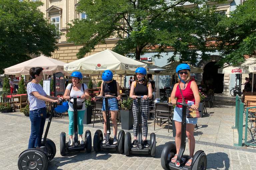
<path fill-rule="evenodd" d="M 138 99 L 133 100 L 133 135 L 137 137 L 138 135 Z M 142 133 L 144 137 L 148 135 L 148 114 L 149 114 L 149 100 L 141 99 L 141 118 L 142 118 Z"/>

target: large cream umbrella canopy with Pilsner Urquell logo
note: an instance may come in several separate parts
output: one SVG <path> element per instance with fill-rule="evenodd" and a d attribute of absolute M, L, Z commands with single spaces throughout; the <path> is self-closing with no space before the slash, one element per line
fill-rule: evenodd
<path fill-rule="evenodd" d="M 147 69 L 147 64 L 125 57 L 109 49 L 64 64 L 64 71 L 80 71 L 82 74 L 100 75 L 105 70 L 113 74 L 131 75 L 138 67 Z"/>

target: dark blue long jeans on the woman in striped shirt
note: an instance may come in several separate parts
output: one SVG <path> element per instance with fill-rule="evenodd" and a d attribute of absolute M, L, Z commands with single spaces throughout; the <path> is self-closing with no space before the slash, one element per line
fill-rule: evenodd
<path fill-rule="evenodd" d="M 29 118 L 31 121 L 31 134 L 29 137 L 28 149 L 41 147 L 44 124 L 46 120 L 46 118 L 39 118 L 38 113 L 35 113 L 34 111 L 29 112 Z"/>

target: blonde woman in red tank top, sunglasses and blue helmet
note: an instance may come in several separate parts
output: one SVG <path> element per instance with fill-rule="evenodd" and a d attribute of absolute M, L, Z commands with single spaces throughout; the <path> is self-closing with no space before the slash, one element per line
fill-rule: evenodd
<path fill-rule="evenodd" d="M 176 68 L 176 75 L 179 77 L 179 83 L 175 84 L 173 87 L 173 91 L 171 94 L 171 102 L 172 104 L 176 104 L 176 102 L 182 102 L 182 95 L 180 89 L 182 91 L 183 97 L 188 103 L 188 101 L 194 102 L 194 105 L 191 106 L 191 109 L 198 109 L 200 96 L 198 87 L 195 81 L 190 80 L 190 67 L 188 64 L 180 64 Z M 180 89 L 179 89 L 180 85 Z M 177 101 L 175 99 L 177 97 Z M 182 118 L 182 106 L 176 105 L 174 109 L 173 120 L 175 121 L 176 127 L 176 136 L 175 136 L 175 143 L 176 143 L 176 150 L 177 153 L 171 159 L 173 163 L 177 161 L 177 156 L 180 150 L 181 145 L 181 118 Z M 194 156 L 195 151 L 195 138 L 194 138 L 194 128 L 195 124 L 197 123 L 197 118 L 186 118 L 187 128 L 186 134 L 188 136 L 188 143 L 189 143 L 189 157 L 188 161 L 186 162 L 186 166 L 191 166 L 192 159 Z"/>

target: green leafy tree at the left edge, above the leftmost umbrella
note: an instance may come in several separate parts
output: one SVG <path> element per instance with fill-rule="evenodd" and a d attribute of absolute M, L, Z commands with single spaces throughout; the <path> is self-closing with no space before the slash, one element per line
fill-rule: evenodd
<path fill-rule="evenodd" d="M 0 0 L 0 73 L 40 52 L 51 56 L 58 49 L 60 32 L 40 12 L 41 1 Z"/>

